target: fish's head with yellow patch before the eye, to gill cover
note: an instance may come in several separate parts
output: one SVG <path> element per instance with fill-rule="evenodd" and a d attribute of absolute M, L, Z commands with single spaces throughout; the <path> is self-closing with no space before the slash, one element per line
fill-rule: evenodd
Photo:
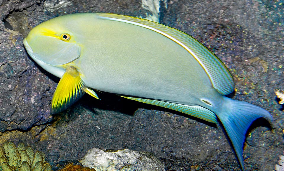
<path fill-rule="evenodd" d="M 64 17 L 56 17 L 43 22 L 29 32 L 23 44 L 38 65 L 48 72 L 61 77 L 54 69 L 78 59 L 81 47 L 73 34 L 72 23 Z"/>

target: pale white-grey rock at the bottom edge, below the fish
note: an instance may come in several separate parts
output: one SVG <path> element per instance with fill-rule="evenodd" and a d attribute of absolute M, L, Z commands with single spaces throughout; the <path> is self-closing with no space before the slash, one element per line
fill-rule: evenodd
<path fill-rule="evenodd" d="M 90 149 L 80 163 L 97 171 L 165 171 L 164 165 L 149 152 L 129 149 Z"/>

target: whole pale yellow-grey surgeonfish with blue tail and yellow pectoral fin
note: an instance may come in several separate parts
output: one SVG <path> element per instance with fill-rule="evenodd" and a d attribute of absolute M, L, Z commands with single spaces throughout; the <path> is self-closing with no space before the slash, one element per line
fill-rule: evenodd
<path fill-rule="evenodd" d="M 193 37 L 145 19 L 118 14 L 68 14 L 33 28 L 28 54 L 61 78 L 52 113 L 94 90 L 170 108 L 218 123 L 243 167 L 243 142 L 251 123 L 272 119 L 259 106 L 226 97 L 234 91 L 225 65 Z M 98 98 L 99 99 L 99 98 Z"/>

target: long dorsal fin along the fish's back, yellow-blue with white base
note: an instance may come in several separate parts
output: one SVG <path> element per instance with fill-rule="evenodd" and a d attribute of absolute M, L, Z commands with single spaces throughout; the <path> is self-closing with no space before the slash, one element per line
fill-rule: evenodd
<path fill-rule="evenodd" d="M 213 87 L 219 93 L 222 95 L 228 95 L 234 91 L 234 81 L 232 75 L 229 73 L 225 65 L 212 52 L 210 52 L 206 47 L 188 34 L 181 32 L 178 29 L 174 29 L 146 19 L 108 13 L 101 13 L 98 15 L 101 19 L 137 25 L 164 35 L 191 53 L 191 55 L 204 68 L 211 80 Z"/>

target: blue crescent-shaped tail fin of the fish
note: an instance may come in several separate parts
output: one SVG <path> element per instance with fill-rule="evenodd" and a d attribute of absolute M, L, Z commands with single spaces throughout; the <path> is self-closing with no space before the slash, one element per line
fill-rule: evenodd
<path fill-rule="evenodd" d="M 238 160 L 243 167 L 243 143 L 245 141 L 246 131 L 251 123 L 257 118 L 267 118 L 272 120 L 272 116 L 265 109 L 245 101 L 237 101 L 224 97 L 224 103 L 221 112 L 216 115 L 222 122 L 233 147 Z"/>

